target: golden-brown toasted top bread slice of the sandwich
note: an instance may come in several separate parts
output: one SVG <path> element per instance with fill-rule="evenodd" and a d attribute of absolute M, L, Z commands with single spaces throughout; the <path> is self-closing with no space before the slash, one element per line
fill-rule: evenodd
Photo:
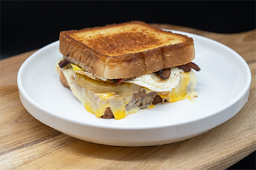
<path fill-rule="evenodd" d="M 141 21 L 61 32 L 59 51 L 106 79 L 136 77 L 195 59 L 193 39 Z"/>

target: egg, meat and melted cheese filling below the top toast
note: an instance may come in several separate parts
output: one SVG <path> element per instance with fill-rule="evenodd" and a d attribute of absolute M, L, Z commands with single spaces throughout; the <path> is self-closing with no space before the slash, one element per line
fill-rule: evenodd
<path fill-rule="evenodd" d="M 58 62 L 59 63 L 59 62 Z M 63 85 L 70 88 L 81 104 L 96 117 L 121 119 L 143 108 L 153 108 L 158 102 L 176 102 L 190 99 L 195 102 L 197 79 L 193 71 L 170 68 L 170 74 L 162 79 L 157 73 L 149 73 L 120 84 L 100 79 L 75 64 L 60 68 Z"/>

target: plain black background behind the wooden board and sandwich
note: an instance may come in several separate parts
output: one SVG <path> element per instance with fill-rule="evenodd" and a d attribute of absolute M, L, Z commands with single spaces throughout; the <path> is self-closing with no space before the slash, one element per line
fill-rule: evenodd
<path fill-rule="evenodd" d="M 255 29 L 255 1 L 1 1 L 1 59 L 57 41 L 62 30 L 134 20 L 246 32 Z M 255 152 L 229 169 L 255 169 Z"/>

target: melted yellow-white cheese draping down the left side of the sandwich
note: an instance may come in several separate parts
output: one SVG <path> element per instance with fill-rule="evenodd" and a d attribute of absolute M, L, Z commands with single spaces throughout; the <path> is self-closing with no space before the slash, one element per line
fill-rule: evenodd
<path fill-rule="evenodd" d="M 136 113 L 140 108 L 133 108 L 127 110 L 125 105 L 132 99 L 133 93 L 127 93 L 125 95 L 116 95 L 114 93 L 93 93 L 86 90 L 81 86 L 78 86 L 74 82 L 74 70 L 72 68 L 66 68 L 61 70 L 65 75 L 72 93 L 80 100 L 81 104 L 89 111 L 94 113 L 96 117 L 101 117 L 107 107 L 111 108 L 114 118 L 121 119 L 131 113 Z"/>

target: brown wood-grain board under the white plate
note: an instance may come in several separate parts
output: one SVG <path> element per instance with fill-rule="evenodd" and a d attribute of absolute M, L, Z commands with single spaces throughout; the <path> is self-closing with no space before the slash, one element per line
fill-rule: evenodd
<path fill-rule="evenodd" d="M 226 169 L 256 150 L 255 34 L 212 33 L 170 24 L 239 53 L 250 66 L 250 96 L 237 115 L 197 137 L 150 147 L 104 146 L 69 137 L 32 117 L 21 104 L 17 71 L 36 50 L 0 61 L 0 169 Z"/>

